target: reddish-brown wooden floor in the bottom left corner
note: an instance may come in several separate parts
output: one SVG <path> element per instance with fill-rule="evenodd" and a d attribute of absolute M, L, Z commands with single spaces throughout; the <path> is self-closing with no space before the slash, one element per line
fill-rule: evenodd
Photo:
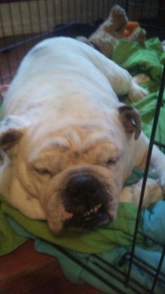
<path fill-rule="evenodd" d="M 0 265 L 1 294 L 99 294 L 89 285 L 69 282 L 55 258 L 34 250 L 34 241 L 0 257 Z"/>

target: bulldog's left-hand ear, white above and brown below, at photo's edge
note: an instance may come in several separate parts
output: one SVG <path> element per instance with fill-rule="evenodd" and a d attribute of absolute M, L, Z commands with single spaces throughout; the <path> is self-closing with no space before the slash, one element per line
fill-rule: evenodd
<path fill-rule="evenodd" d="M 0 123 L 0 149 L 12 156 L 17 143 L 22 138 L 24 121 L 18 116 L 7 116 Z"/>

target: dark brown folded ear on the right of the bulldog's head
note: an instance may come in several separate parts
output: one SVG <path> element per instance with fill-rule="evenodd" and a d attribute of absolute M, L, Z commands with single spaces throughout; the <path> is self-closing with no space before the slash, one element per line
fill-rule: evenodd
<path fill-rule="evenodd" d="M 131 106 L 122 105 L 118 107 L 120 121 L 128 135 L 134 133 L 134 139 L 137 140 L 141 133 L 141 116 L 136 109 Z"/>

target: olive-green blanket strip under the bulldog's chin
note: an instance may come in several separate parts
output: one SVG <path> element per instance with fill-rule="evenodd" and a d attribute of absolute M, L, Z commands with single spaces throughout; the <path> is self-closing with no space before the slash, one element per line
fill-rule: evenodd
<path fill-rule="evenodd" d="M 98 228 L 92 232 L 84 232 L 81 234 L 66 232 L 62 235 L 55 235 L 50 232 L 46 222 L 29 220 L 24 217 L 22 213 L 2 200 L 1 254 L 9 253 L 11 250 L 15 249 L 17 245 L 21 245 L 22 242 L 26 240 L 15 234 L 15 229 L 12 229 L 8 225 L 8 222 L 6 222 L 6 215 L 10 215 L 13 220 L 17 221 L 17 224 L 21 225 L 33 236 L 82 253 L 103 253 L 121 245 L 131 245 L 136 219 L 136 207 L 132 203 L 120 203 L 117 220 L 111 225 Z M 143 243 L 143 238 L 140 237 L 138 243 Z"/>

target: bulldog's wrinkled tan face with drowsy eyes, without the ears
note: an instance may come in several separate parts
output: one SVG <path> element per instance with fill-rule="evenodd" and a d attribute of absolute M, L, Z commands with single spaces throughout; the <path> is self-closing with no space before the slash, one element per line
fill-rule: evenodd
<path fill-rule="evenodd" d="M 32 135 L 26 169 L 52 231 L 92 229 L 113 220 L 123 154 L 112 136 L 92 126 L 50 132 L 44 140 L 43 133 Z"/>

